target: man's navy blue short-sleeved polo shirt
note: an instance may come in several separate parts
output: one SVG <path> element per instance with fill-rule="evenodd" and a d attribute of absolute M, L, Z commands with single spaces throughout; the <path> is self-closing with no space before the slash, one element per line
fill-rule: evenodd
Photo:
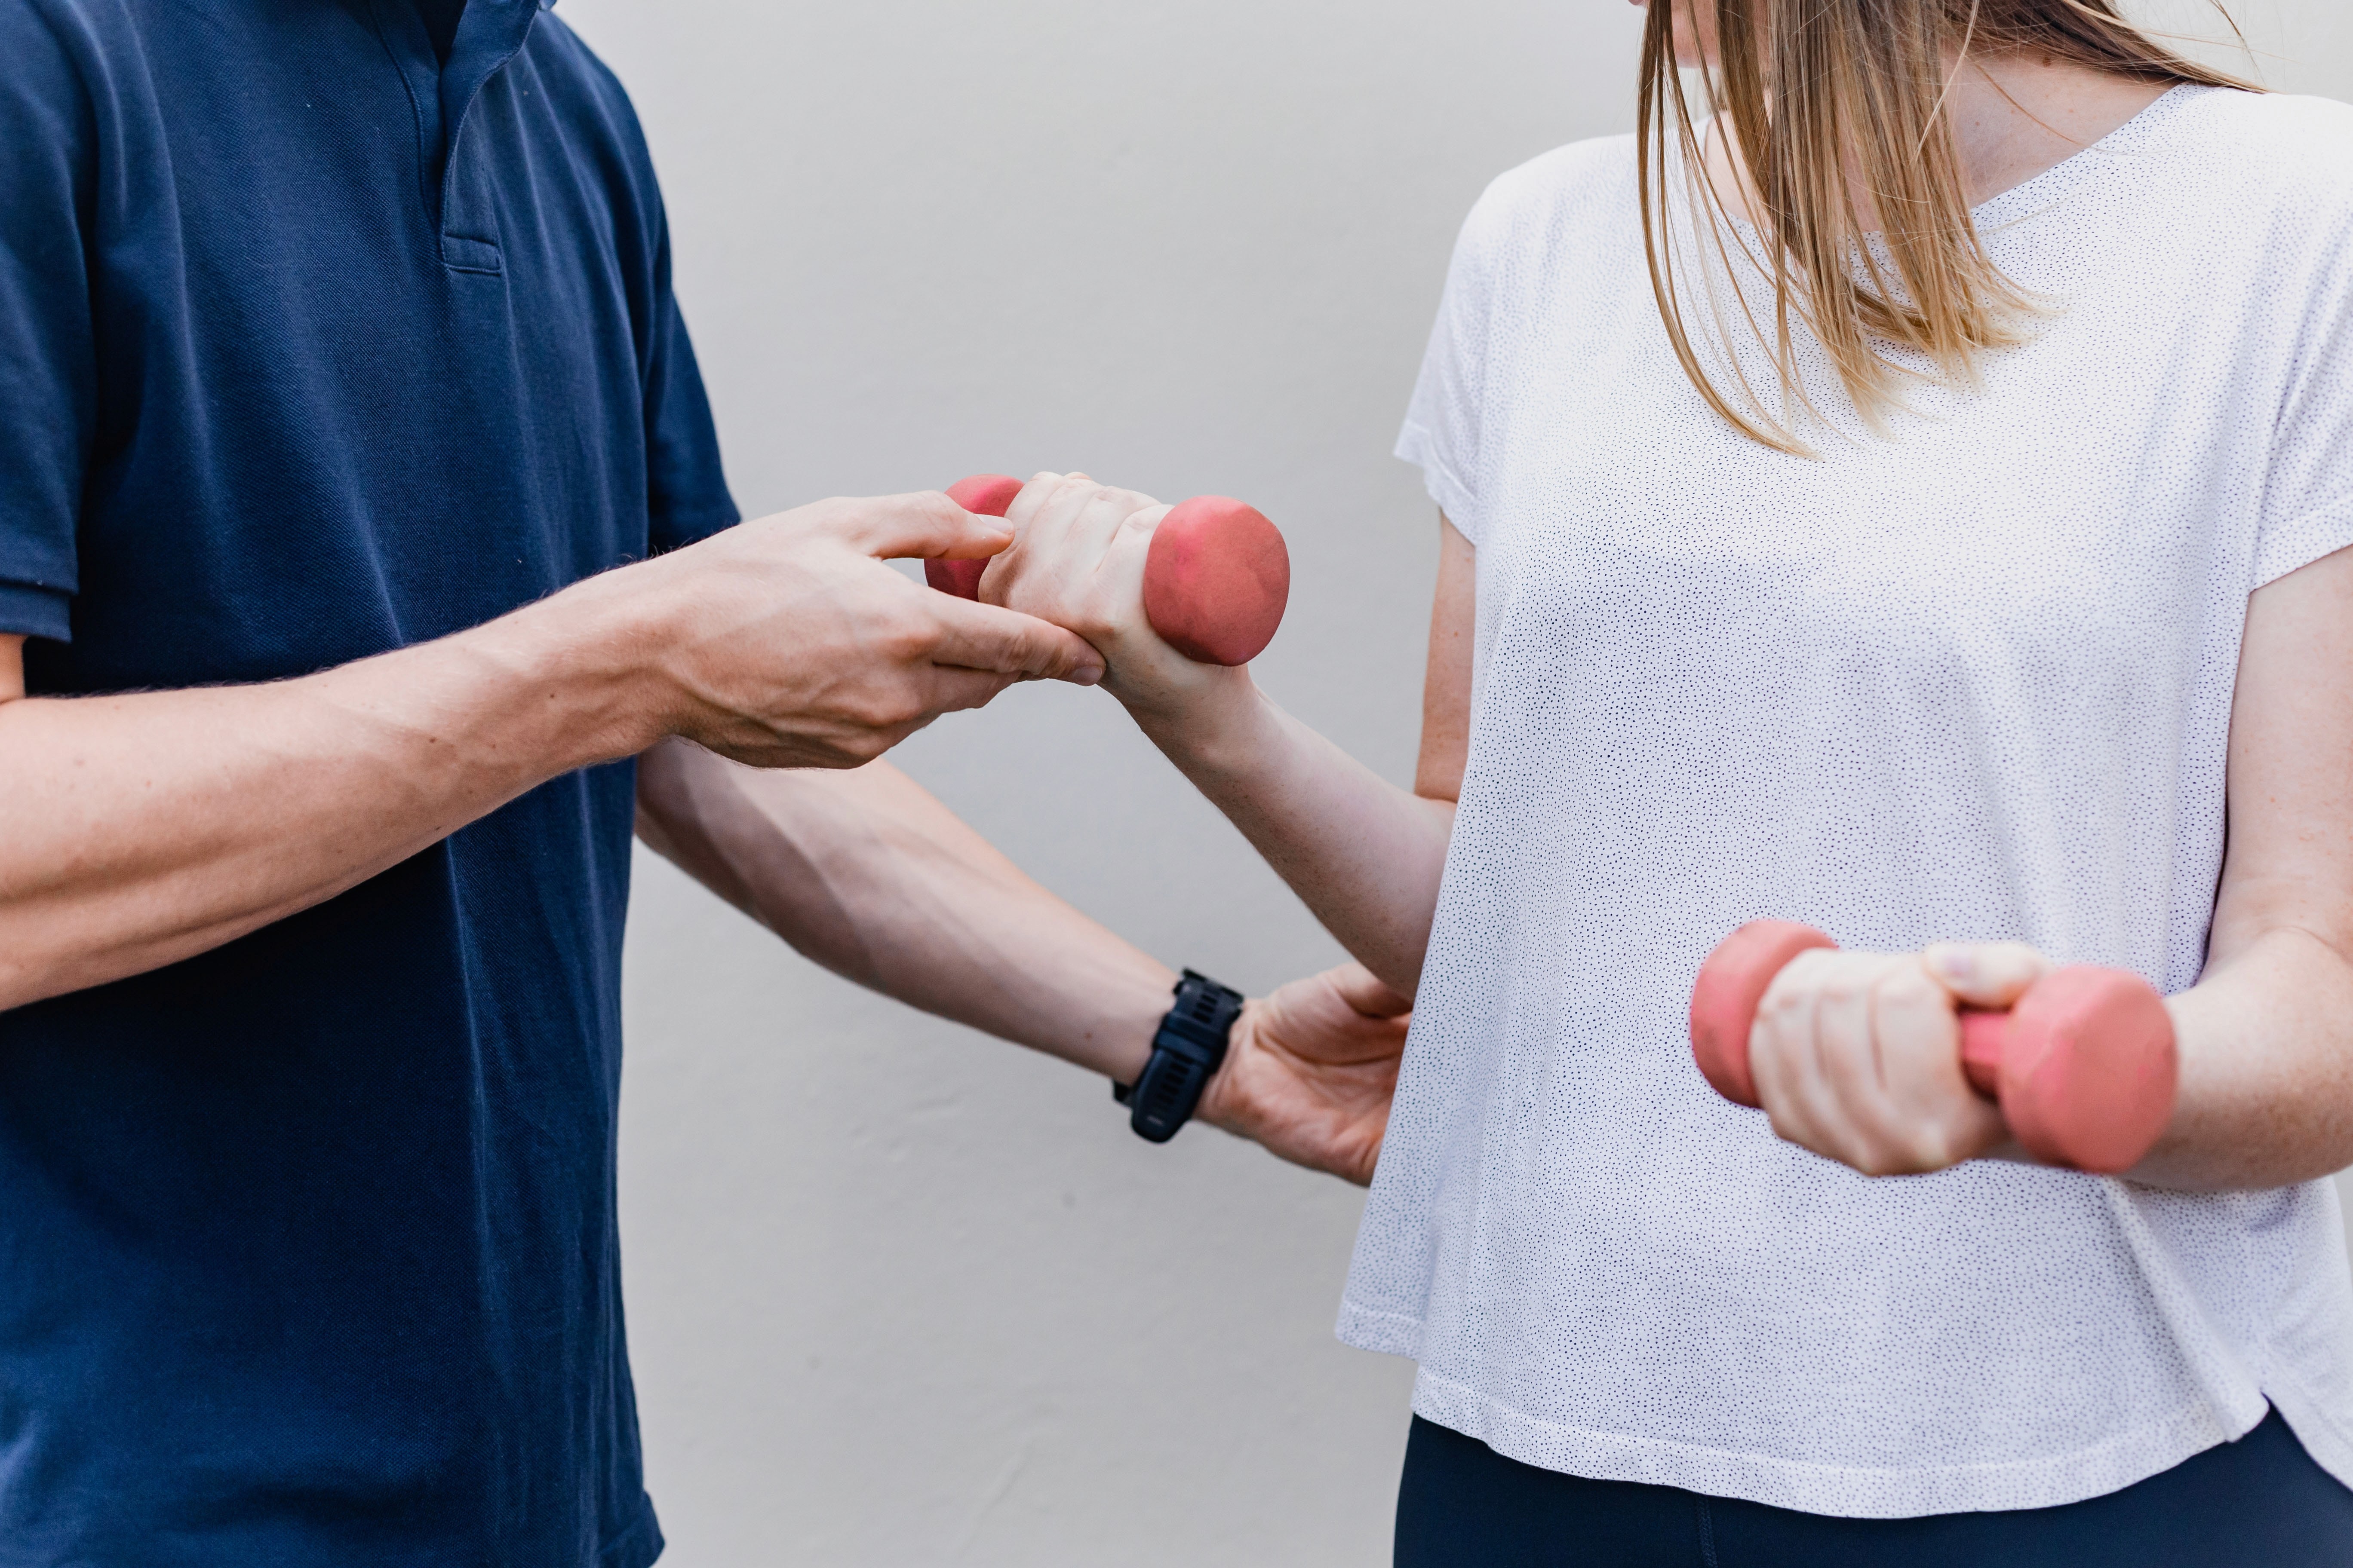
<path fill-rule="evenodd" d="M 734 522 L 619 82 L 532 0 L 0 0 L 0 632 L 266 682 Z M 642 1568 L 633 769 L 0 1013 L 0 1568 Z"/>

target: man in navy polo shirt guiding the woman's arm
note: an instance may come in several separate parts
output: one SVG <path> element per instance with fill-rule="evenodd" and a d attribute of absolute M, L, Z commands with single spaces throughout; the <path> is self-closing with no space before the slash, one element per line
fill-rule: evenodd
<path fill-rule="evenodd" d="M 0 1568 L 642 1568 L 633 818 L 1132 1081 L 1169 971 L 807 771 L 1101 661 L 875 559 L 1005 545 L 944 496 L 732 527 L 534 0 L 0 0 Z M 1205 1114 L 1362 1178 L 1398 1011 L 1254 1006 Z"/>

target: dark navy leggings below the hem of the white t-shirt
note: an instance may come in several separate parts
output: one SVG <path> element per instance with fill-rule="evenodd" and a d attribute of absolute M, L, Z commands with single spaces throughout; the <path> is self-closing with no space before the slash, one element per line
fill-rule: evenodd
<path fill-rule="evenodd" d="M 2162 1476 L 2057 1509 L 1824 1519 L 1584 1481 L 1414 1418 L 1398 1568 L 2348 1568 L 2353 1490 L 2278 1413 Z"/>

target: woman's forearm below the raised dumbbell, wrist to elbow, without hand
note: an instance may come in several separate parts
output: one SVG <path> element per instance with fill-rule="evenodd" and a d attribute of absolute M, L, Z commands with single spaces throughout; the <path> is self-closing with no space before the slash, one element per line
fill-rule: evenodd
<path fill-rule="evenodd" d="M 1144 733 L 1209 797 L 1315 919 L 1405 997 L 1438 914 L 1454 802 L 1384 780 L 1231 672 Z"/>

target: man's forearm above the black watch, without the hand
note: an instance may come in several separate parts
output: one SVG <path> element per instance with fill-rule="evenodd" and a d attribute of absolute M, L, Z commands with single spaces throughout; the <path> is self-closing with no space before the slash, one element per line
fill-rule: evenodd
<path fill-rule="evenodd" d="M 668 741 L 638 832 L 826 969 L 1132 1084 L 1176 983 L 906 773 L 760 773 Z"/>

